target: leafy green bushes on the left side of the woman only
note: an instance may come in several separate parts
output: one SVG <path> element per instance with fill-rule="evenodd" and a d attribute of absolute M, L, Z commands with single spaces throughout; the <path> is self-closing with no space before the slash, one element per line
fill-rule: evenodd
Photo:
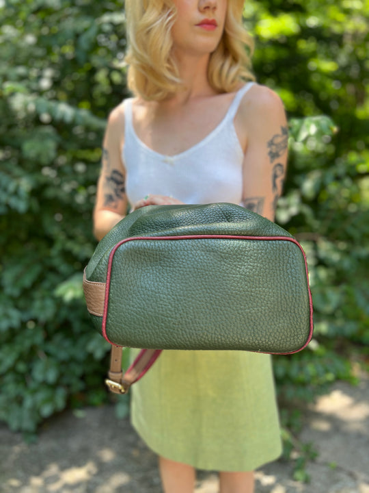
<path fill-rule="evenodd" d="M 13 1 L 1 18 L 0 419 L 33 432 L 68 402 L 106 400 L 81 273 L 106 116 L 124 97 L 124 14 Z"/>

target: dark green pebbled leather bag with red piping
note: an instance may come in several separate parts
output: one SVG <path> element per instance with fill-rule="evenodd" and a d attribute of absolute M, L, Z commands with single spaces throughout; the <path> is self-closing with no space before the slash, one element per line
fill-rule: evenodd
<path fill-rule="evenodd" d="M 312 337 L 303 249 L 230 203 L 128 214 L 98 244 L 83 288 L 113 346 L 286 354 Z"/>

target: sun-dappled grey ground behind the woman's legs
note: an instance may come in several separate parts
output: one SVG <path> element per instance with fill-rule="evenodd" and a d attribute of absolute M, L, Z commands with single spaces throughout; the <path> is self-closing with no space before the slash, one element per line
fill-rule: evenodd
<path fill-rule="evenodd" d="M 318 451 L 310 483 L 293 481 L 281 460 L 256 472 L 256 493 L 369 493 L 369 375 L 306 409 L 300 438 Z M 161 493 L 161 484 L 154 453 L 107 405 L 64 412 L 33 444 L 0 425 L 0 492 Z M 199 471 L 196 493 L 217 492 L 217 475 Z"/>

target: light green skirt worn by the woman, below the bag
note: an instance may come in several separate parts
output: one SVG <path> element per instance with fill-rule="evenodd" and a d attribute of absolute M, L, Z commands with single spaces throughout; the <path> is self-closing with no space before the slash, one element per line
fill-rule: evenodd
<path fill-rule="evenodd" d="M 271 357 L 163 351 L 132 387 L 131 422 L 167 459 L 202 470 L 254 470 L 282 452 Z"/>

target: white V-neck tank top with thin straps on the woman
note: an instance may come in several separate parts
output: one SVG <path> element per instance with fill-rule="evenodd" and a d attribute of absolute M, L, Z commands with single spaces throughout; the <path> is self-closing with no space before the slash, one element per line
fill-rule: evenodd
<path fill-rule="evenodd" d="M 188 204 L 241 203 L 243 149 L 234 128 L 234 116 L 254 82 L 236 92 L 221 123 L 187 151 L 167 156 L 150 149 L 135 133 L 132 101 L 124 101 L 123 162 L 126 194 L 134 204 L 148 194 L 175 197 Z"/>

